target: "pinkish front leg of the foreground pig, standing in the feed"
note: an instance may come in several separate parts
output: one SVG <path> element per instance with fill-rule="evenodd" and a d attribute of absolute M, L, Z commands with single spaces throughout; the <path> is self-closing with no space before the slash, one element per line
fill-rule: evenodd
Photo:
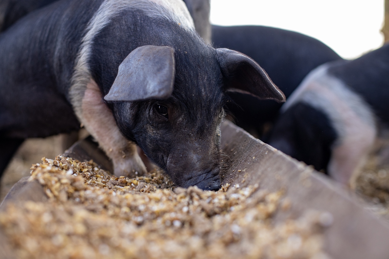
<path fill-rule="evenodd" d="M 135 176 L 136 172 L 138 175 L 146 172 L 137 146 L 120 133 L 112 111 L 103 103 L 100 89 L 93 80 L 88 83 L 82 99 L 81 120 L 112 160 L 116 176 Z"/>

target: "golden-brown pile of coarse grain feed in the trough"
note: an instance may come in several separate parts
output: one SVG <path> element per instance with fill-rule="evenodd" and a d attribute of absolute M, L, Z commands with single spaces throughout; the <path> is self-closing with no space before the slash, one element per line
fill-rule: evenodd
<path fill-rule="evenodd" d="M 0 230 L 18 258 L 329 258 L 328 215 L 273 224 L 282 192 L 173 187 L 158 171 L 128 179 L 62 156 L 33 165 L 49 201 L 8 204 Z"/>

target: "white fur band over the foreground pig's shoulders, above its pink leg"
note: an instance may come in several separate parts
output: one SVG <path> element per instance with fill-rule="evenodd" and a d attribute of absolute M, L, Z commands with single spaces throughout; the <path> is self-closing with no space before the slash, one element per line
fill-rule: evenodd
<path fill-rule="evenodd" d="M 193 19 L 182 0 L 105 0 L 93 15 L 86 28 L 86 34 L 81 41 L 80 51 L 75 63 L 75 71 L 70 87 L 70 101 L 76 115 L 82 122 L 81 102 L 86 85 L 91 80 L 88 60 L 91 55 L 91 47 L 95 36 L 110 23 L 112 17 L 119 12 L 129 9 L 140 9 L 147 16 L 167 19 L 173 23 L 179 23 L 188 31 L 195 31 Z"/>

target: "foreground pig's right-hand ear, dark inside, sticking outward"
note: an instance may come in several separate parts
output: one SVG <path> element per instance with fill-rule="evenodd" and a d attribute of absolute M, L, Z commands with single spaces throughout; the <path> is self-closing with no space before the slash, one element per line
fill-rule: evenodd
<path fill-rule="evenodd" d="M 252 94 L 260 99 L 286 100 L 284 93 L 250 57 L 230 49 L 216 49 L 226 90 Z"/>

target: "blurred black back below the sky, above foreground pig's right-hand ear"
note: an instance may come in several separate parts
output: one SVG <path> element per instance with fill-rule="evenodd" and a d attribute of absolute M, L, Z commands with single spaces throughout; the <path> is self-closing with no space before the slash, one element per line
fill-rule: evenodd
<path fill-rule="evenodd" d="M 327 45 L 301 33 L 266 26 L 212 26 L 215 47 L 254 59 L 288 97 L 317 66 L 341 59 Z"/>

